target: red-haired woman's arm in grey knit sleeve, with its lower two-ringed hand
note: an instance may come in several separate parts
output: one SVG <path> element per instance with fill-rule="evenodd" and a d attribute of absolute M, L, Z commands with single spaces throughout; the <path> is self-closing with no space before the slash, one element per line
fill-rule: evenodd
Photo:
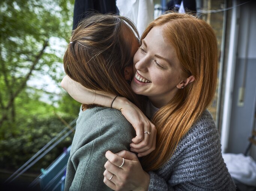
<path fill-rule="evenodd" d="M 157 170 L 157 173 L 148 172 L 150 181 L 147 184 L 143 183 L 147 176 L 137 163 L 138 160 L 129 157 L 133 153 L 121 151 L 114 154 L 108 151 L 108 162 L 105 164 L 106 171 L 103 175 L 108 177 L 108 173 L 113 173 L 118 179 L 111 180 L 112 183 L 104 179 L 105 184 L 114 190 L 132 190 L 142 182 L 142 185 L 148 185 L 150 191 L 235 191 L 235 184 L 222 158 L 217 128 L 210 113 L 207 113 L 203 113 L 198 124 L 192 126 L 183 137 L 172 158 L 163 168 Z M 126 160 L 123 167 L 118 168 L 121 157 Z"/>

